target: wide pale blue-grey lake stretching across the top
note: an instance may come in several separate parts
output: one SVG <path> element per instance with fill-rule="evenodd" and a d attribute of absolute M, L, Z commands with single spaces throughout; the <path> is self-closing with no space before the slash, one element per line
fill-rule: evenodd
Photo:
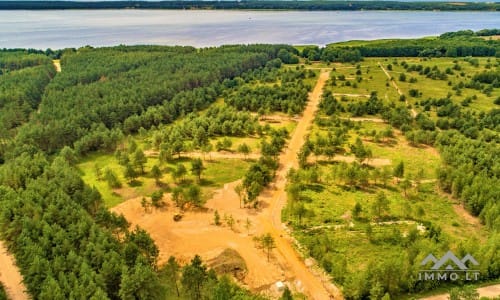
<path fill-rule="evenodd" d="M 0 48 L 287 43 L 421 37 L 500 28 L 500 12 L 49 10 L 0 11 Z"/>

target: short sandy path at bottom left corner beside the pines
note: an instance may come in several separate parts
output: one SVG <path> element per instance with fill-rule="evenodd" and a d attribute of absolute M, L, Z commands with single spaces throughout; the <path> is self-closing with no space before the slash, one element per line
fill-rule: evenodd
<path fill-rule="evenodd" d="M 25 292 L 23 277 L 16 266 L 14 256 L 7 252 L 7 247 L 0 241 L 0 281 L 11 300 L 29 299 Z"/>

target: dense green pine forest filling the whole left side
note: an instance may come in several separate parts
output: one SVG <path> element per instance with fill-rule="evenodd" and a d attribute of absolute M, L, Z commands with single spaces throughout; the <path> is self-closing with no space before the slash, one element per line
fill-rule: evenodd
<path fill-rule="evenodd" d="M 0 86 L 9 90 L 2 93 L 1 112 L 13 105 L 25 115 L 2 137 L 0 232 L 29 294 L 257 299 L 216 276 L 199 257 L 182 267 L 172 258 L 159 268 L 151 237 L 109 212 L 74 164 L 90 151 L 114 151 L 124 134 L 207 108 L 232 79 L 266 64 L 273 68 L 280 51 L 295 52 L 279 45 L 68 49 L 61 59 L 65 71 L 55 77 L 42 54 L 1 52 Z M 33 86 L 12 83 L 21 78 Z M 213 124 L 251 119 L 226 109 L 212 109 L 208 117 Z"/>

